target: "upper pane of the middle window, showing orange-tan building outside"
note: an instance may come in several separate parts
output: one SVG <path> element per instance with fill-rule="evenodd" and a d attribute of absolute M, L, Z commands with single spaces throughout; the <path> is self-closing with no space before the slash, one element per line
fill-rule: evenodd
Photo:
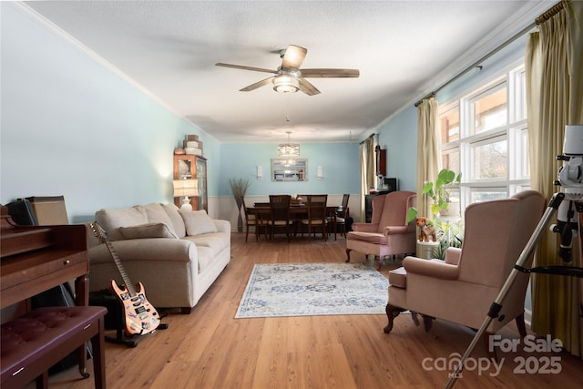
<path fill-rule="evenodd" d="M 506 125 L 506 87 L 475 100 L 473 112 L 475 134 Z"/>

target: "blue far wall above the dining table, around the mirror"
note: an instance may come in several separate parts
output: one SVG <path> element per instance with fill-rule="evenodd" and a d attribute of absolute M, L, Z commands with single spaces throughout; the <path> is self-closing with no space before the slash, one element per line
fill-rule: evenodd
<path fill-rule="evenodd" d="M 277 144 L 223 144 L 220 160 L 220 193 L 231 195 L 229 179 L 250 179 L 247 194 L 360 193 L 358 143 L 301 143 L 301 155 L 308 159 L 308 180 L 303 182 L 271 181 L 271 159 L 277 156 Z M 257 179 L 257 166 L 263 179 Z M 323 179 L 316 178 L 322 166 Z"/>

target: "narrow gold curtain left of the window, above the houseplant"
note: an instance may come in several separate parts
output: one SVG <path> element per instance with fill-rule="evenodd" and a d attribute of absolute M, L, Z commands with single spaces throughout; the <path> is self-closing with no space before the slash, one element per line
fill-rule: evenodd
<path fill-rule="evenodd" d="M 417 106 L 417 214 L 431 215 L 427 196 L 421 191 L 425 182 L 435 181 L 439 172 L 439 128 L 437 100 L 427 97 Z"/>

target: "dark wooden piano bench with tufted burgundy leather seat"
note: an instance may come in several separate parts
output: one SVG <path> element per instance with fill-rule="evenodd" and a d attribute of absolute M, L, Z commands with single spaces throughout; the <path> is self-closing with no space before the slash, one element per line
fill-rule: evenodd
<path fill-rule="evenodd" d="M 107 309 L 94 306 L 45 307 L 2 324 L 0 386 L 21 388 L 36 380 L 48 387 L 48 369 L 79 350 L 79 372 L 84 378 L 87 341 L 93 346 L 95 387 L 105 389 L 104 317 Z"/>

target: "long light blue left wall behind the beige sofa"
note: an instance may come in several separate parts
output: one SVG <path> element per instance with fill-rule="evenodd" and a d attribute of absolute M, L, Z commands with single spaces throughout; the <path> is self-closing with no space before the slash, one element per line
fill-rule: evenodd
<path fill-rule="evenodd" d="M 64 195 L 72 222 L 102 207 L 171 197 L 172 150 L 199 134 L 220 145 L 61 36 L 1 5 L 1 197 Z M 219 191 L 210 176 L 209 192 Z"/>

